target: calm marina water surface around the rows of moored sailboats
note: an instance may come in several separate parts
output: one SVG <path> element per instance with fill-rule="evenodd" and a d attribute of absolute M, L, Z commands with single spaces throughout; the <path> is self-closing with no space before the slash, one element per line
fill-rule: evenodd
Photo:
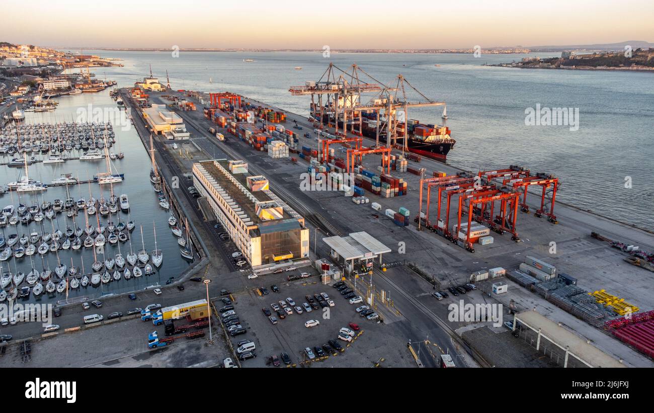
<path fill-rule="evenodd" d="M 93 105 L 93 108 L 105 108 L 115 109 L 117 108 L 116 103 L 109 97 L 109 89 L 99 92 L 99 93 L 82 93 L 80 95 L 66 96 L 58 98 L 59 106 L 54 112 L 27 112 L 26 113 L 26 123 L 27 124 L 38 124 L 38 123 L 49 123 L 56 124 L 58 122 L 73 122 L 78 117 L 79 108 L 84 108 L 88 110 L 88 105 Z M 109 113 L 109 112 L 108 112 Z M 113 113 L 113 112 L 111 112 Z M 118 112 L 117 116 L 120 114 L 124 116 L 124 110 Z M 111 119 L 114 119 L 111 117 Z M 120 125 L 117 125 L 118 121 L 114 120 L 114 132 L 116 133 L 116 144 L 111 148 L 110 152 L 124 152 L 124 159 L 112 161 L 112 167 L 114 167 L 114 173 L 117 170 L 119 173 L 125 174 L 125 180 L 119 184 L 113 184 L 113 192 L 120 196 L 121 194 L 126 194 L 129 197 L 129 215 L 124 212 L 118 212 L 120 220 L 127 222 L 128 220 L 133 220 L 136 223 L 135 229 L 131 233 L 131 242 L 134 252 L 141 250 L 143 243 L 145 243 L 145 249 L 148 253 L 154 250 L 154 225 L 156 225 L 156 241 L 157 247 L 163 251 L 163 264 L 160 267 L 160 271 L 157 271 L 151 276 L 141 276 L 140 278 L 134 278 L 132 276 L 129 280 L 125 280 L 121 277 L 118 281 L 112 281 L 108 284 L 101 284 L 97 288 L 89 285 L 86 288 L 80 286 L 77 290 L 69 289 L 68 297 L 76 297 L 78 295 L 84 296 L 99 296 L 107 293 L 118 293 L 125 291 L 132 291 L 135 289 L 143 289 L 146 286 L 151 286 L 154 284 L 165 284 L 166 280 L 170 276 L 179 276 L 179 274 L 188 267 L 188 263 L 182 259 L 179 254 L 179 246 L 177 245 L 177 238 L 173 236 L 168 225 L 169 212 L 166 212 L 159 206 L 159 201 L 156 197 L 156 193 L 152 190 L 152 184 L 150 184 L 150 157 L 148 152 L 143 147 L 141 140 L 139 139 L 135 129 L 131 127 L 131 124 L 127 122 L 129 128 L 123 130 Z M 77 156 L 78 152 L 73 150 L 70 156 Z M 14 155 L 15 156 L 15 155 Z M 47 155 L 45 155 L 47 157 Z M 43 154 L 36 155 L 37 159 L 44 157 Z M 3 155 L 0 156 L 0 161 L 7 162 L 10 160 L 10 156 Z M 75 177 L 80 178 L 80 180 L 87 180 L 92 178 L 92 176 L 98 172 L 105 172 L 107 166 L 104 159 L 99 159 L 97 161 L 78 161 L 71 160 L 66 161 L 62 164 L 44 164 L 44 163 L 35 163 L 29 166 L 29 177 L 40 180 L 45 184 L 49 184 L 52 181 L 52 178 L 58 178 L 61 174 L 72 173 Z M 5 184 L 6 182 L 13 182 L 20 178 L 21 174 L 24 173 L 24 169 L 18 168 L 9 168 L 6 166 L 0 167 L 0 182 Z M 80 197 L 84 199 L 89 199 L 91 193 L 95 199 L 99 199 L 101 195 L 104 195 L 105 198 L 109 199 L 111 196 L 111 188 L 109 185 L 99 186 L 98 184 L 81 184 L 75 186 L 69 186 L 70 196 L 77 201 Z M 65 186 L 50 186 L 47 191 L 43 193 L 28 193 L 20 195 L 18 193 L 6 193 L 5 195 L 0 195 L 0 203 L 2 207 L 5 205 L 14 205 L 18 206 L 19 203 L 30 206 L 34 204 L 41 205 L 45 201 L 54 201 L 54 199 L 61 199 L 62 201 L 66 199 L 66 187 Z M 86 221 L 84 219 L 84 213 L 81 212 L 75 217 L 75 225 L 84 228 Z M 111 221 L 118 223 L 118 217 L 116 214 L 111 214 L 107 217 L 98 216 L 98 214 L 88 216 L 90 225 L 97 226 L 97 218 L 99 218 L 101 223 L 108 222 L 111 217 Z M 50 220 L 44 218 L 40 223 L 31 222 L 29 225 L 7 225 L 3 227 L 2 231 L 5 235 L 5 239 L 9 237 L 12 233 L 18 233 L 22 235 L 23 233 L 29 233 L 31 231 L 37 232 L 49 232 L 52 233 L 56 229 L 61 229 L 65 231 L 67 225 L 74 225 L 73 221 L 65 215 L 65 213 L 60 213 L 57 215 L 56 220 Z M 143 225 L 143 239 L 141 241 L 141 231 L 139 225 Z M 53 230 L 54 228 L 54 230 Z M 86 234 L 82 236 L 82 240 L 86 237 Z M 63 239 L 60 243 L 63 242 Z M 109 256 L 113 257 L 115 254 L 118 254 L 118 244 L 120 244 L 120 252 L 125 257 L 129 253 L 129 242 L 121 243 L 117 242 L 114 245 L 107 242 L 104 246 L 105 254 L 107 258 Z M 15 247 L 15 246 L 14 246 Z M 93 249 L 85 249 L 84 247 L 80 250 L 74 251 L 72 248 L 69 250 L 59 250 L 57 254 L 48 252 L 44 254 L 43 261 L 41 256 L 38 253 L 35 253 L 31 258 L 33 264 L 30 262 L 29 257 L 24 256 L 18 260 L 12 258 L 9 261 L 2 263 L 3 270 L 7 271 L 7 265 L 9 264 L 9 270 L 12 273 L 22 271 L 24 273 L 29 273 L 31 271 L 31 266 L 34 265 L 36 269 L 41 271 L 43 267 L 50 267 L 54 270 L 54 267 L 58 265 L 58 258 L 62 263 L 71 266 L 71 258 L 73 259 L 73 265 L 80 268 L 82 266 L 82 261 L 84 262 L 84 269 L 86 273 L 92 273 L 91 264 L 95 261 Z M 97 254 L 97 260 L 103 261 L 104 257 L 101 254 Z M 126 264 L 129 265 L 129 264 Z M 112 273 L 110 271 L 110 273 Z M 26 282 L 23 282 L 21 286 L 26 286 Z M 33 299 L 33 296 L 30 295 L 30 299 Z M 65 293 L 54 293 L 54 295 L 48 297 L 45 291 L 41 294 L 40 299 L 42 301 L 56 301 L 65 298 Z"/>

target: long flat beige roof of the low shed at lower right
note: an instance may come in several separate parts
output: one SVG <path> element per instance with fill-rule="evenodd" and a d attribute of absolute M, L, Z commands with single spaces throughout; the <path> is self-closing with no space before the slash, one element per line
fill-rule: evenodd
<path fill-rule="evenodd" d="M 570 346 L 569 350 L 572 354 L 593 367 L 627 367 L 620 363 L 617 358 L 603 352 L 593 344 L 587 343 L 583 337 L 564 329 L 558 323 L 549 320 L 549 318 L 534 310 L 523 311 L 516 314 L 515 317 L 532 329 L 538 330 L 540 328 L 545 337 L 548 337 L 549 340 L 552 340 L 560 347 Z"/>

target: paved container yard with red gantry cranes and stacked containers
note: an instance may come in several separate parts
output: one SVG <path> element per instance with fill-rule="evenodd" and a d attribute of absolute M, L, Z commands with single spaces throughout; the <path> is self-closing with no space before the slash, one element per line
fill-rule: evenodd
<path fill-rule="evenodd" d="M 188 91 L 178 93 L 187 98 L 192 94 Z M 209 94 L 211 95 L 213 93 Z M 217 99 L 216 97 L 215 101 Z M 637 287 L 643 285 L 645 280 L 628 276 L 634 280 L 633 284 L 621 281 L 621 277 L 630 274 L 631 266 L 626 262 L 619 264 L 613 274 L 604 274 L 601 280 L 589 277 L 591 273 L 601 271 L 600 261 L 593 261 L 594 259 L 622 261 L 615 254 L 595 257 L 595 254 L 606 248 L 596 244 L 596 240 L 591 237 L 594 230 L 604 229 L 611 233 L 617 231 L 625 238 L 632 237 L 630 239 L 633 244 L 642 246 L 651 246 L 654 242 L 640 230 L 617 223 L 606 226 L 591 216 L 585 216 L 582 211 L 557 203 L 559 180 L 552 174 L 555 171 L 534 173 L 528 167 L 515 165 L 497 171 L 461 171 L 420 154 L 403 152 L 401 145 L 392 148 L 375 147 L 375 142 L 365 136 L 349 133 L 347 138 L 342 133 L 339 136 L 336 130 L 329 129 L 328 126 L 320 129 L 319 123 L 307 122 L 306 118 L 294 114 L 287 113 L 285 123 L 267 124 L 262 112 L 252 110 L 252 107 L 267 107 L 266 105 L 233 93 L 230 93 L 230 99 L 230 103 L 222 101 L 219 108 L 198 108 L 180 114 L 184 122 L 200 136 L 209 130 L 209 141 L 206 138 L 197 141 L 201 147 L 206 142 L 209 153 L 209 148 L 216 144 L 225 154 L 249 159 L 250 167 L 254 163 L 262 170 L 273 168 L 275 173 L 267 177 L 289 191 L 298 188 L 301 176 L 305 173 L 308 173 L 312 184 L 322 182 L 324 188 L 330 188 L 331 190 L 306 194 L 296 193 L 298 201 L 292 202 L 296 203 L 298 212 L 307 218 L 307 224 L 318 228 L 318 231 L 312 229 L 311 232 L 320 232 L 320 237 L 323 237 L 322 232 L 329 235 L 335 231 L 345 233 L 347 227 L 365 223 L 371 235 L 388 244 L 397 244 L 398 240 L 404 242 L 407 253 L 404 256 L 392 255 L 416 261 L 422 271 L 433 274 L 438 288 L 445 289 L 471 280 L 499 283 L 498 290 L 502 293 L 494 294 L 494 297 L 500 297 L 500 302 L 507 301 L 508 307 L 508 301 L 521 303 L 524 300 L 523 294 L 517 293 L 526 287 L 525 293 L 531 294 L 532 300 L 542 300 L 539 307 L 547 307 L 547 303 L 554 305 L 556 310 L 553 310 L 552 317 L 567 319 L 570 316 L 571 324 L 572 320 L 581 320 L 582 324 L 574 323 L 579 334 L 593 337 L 593 340 L 602 342 L 602 346 L 606 346 L 606 340 L 611 340 L 612 354 L 623 352 L 620 355 L 629 359 L 628 363 L 651 363 L 640 359 L 638 352 L 621 347 L 624 344 L 603 333 L 600 324 L 619 316 L 619 313 L 613 311 L 611 306 L 597 303 L 588 292 L 603 288 L 613 291 L 610 288 L 615 288 L 615 291 L 621 293 L 612 294 L 620 299 L 625 297 L 625 301 L 634 308 L 637 306 L 647 310 L 654 306 L 654 299 L 647 297 Z M 249 103 L 248 109 L 253 112 L 254 118 L 247 120 L 247 115 L 245 118 L 241 115 L 241 119 L 246 121 L 237 122 L 234 107 L 239 105 L 239 100 L 241 107 L 245 102 Z M 199 101 L 196 103 L 200 104 Z M 212 113 L 218 113 L 224 118 L 224 122 L 220 121 L 224 127 L 216 124 L 215 115 L 211 119 Z M 210 128 L 214 128 L 213 132 Z M 218 139 L 218 134 L 225 135 L 226 140 Z M 288 148 L 287 158 L 268 156 L 269 161 L 264 161 L 264 158 L 250 157 L 250 154 L 261 151 L 271 154 L 271 146 L 279 148 L 281 142 Z M 307 195 L 311 200 L 306 198 Z M 318 204 L 328 206 L 320 208 Z M 320 218 L 330 225 L 325 225 L 317 217 L 317 210 L 320 210 Z M 347 222 L 343 221 L 343 217 L 348 217 Z M 377 225 L 370 226 L 369 222 Z M 317 237 L 317 244 L 320 237 Z M 311 238 L 313 248 L 313 234 Z M 636 242 L 636 239 L 640 242 Z M 566 254 L 573 254 L 576 259 L 570 262 L 560 253 L 553 254 L 551 259 L 541 258 L 547 256 L 551 241 L 557 242 L 559 248 L 563 248 Z M 573 244 L 579 252 L 570 250 L 569 246 Z M 590 252 L 584 252 L 586 249 Z M 439 258 L 435 261 L 424 259 L 424 254 L 436 254 Z M 523 257 L 515 259 L 515 254 Z M 471 278 L 470 274 L 479 271 L 479 265 L 474 264 L 479 259 L 491 264 L 489 269 L 493 271 L 488 272 L 492 275 L 477 274 Z M 551 260 L 562 259 L 566 261 L 562 270 L 564 275 L 553 274 L 551 268 L 555 263 Z M 408 270 L 400 267 L 388 269 L 386 273 L 389 271 L 407 273 Z M 383 280 L 384 276 L 381 275 L 385 273 L 378 272 L 377 269 L 373 273 L 373 283 L 377 280 L 379 289 L 387 285 L 388 281 Z M 411 271 L 407 274 L 411 274 Z M 579 280 L 583 293 L 575 293 L 577 290 L 572 289 L 568 291 L 570 287 L 566 288 L 566 284 L 561 282 L 564 279 L 570 282 L 571 278 Z M 559 291 L 561 286 L 564 289 Z M 373 286 L 375 288 L 377 287 Z M 488 288 L 492 290 L 490 284 Z M 529 292 L 529 289 L 536 294 Z M 545 290 L 548 292 L 543 293 Z M 530 305 L 517 305 L 517 308 L 526 309 Z"/>

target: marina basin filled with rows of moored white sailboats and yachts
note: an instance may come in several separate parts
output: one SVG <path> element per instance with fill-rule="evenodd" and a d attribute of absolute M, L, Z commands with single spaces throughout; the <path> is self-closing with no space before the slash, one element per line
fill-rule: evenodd
<path fill-rule="evenodd" d="M 116 107 L 103 93 L 94 105 Z M 0 129 L 0 299 L 20 292 L 59 302 L 165 285 L 190 263 L 169 229 L 167 195 L 150 189 L 149 169 L 129 168 L 151 163 L 135 131 L 73 120 L 87 96 L 60 97 L 56 112 L 27 112 Z"/>

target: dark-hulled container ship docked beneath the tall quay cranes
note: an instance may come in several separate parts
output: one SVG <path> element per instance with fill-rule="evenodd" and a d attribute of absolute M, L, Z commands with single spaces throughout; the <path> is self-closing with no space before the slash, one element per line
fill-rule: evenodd
<path fill-rule="evenodd" d="M 320 111 L 311 110 L 314 119 L 320 120 Z M 376 139 L 377 137 L 377 114 L 375 112 L 361 112 L 361 133 L 364 137 Z M 322 112 L 323 124 L 334 124 L 333 112 L 324 110 Z M 380 128 L 382 127 L 381 122 Z M 358 129 L 359 119 L 354 118 L 348 122 L 353 130 Z M 445 161 L 447 154 L 454 147 L 456 140 L 451 138 L 451 130 L 447 126 L 436 124 L 423 125 L 417 120 L 409 119 L 407 129 L 407 149 L 409 152 L 429 157 L 437 161 Z M 404 122 L 398 122 L 396 133 L 398 135 L 396 144 L 404 146 Z M 339 120 L 339 128 L 343 128 L 343 121 Z M 349 128 L 348 128 L 349 129 Z M 379 142 L 386 143 L 386 128 L 379 130 Z"/>

